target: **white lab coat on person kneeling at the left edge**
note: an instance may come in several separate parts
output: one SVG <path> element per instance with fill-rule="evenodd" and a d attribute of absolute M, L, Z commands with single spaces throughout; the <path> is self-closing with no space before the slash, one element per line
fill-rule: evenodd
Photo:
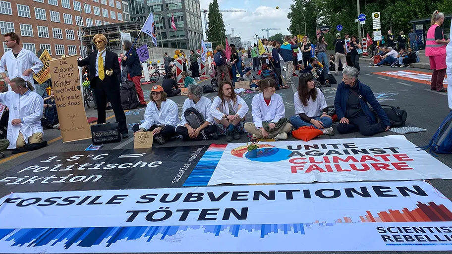
<path fill-rule="evenodd" d="M 8 131 L 6 138 L 9 140 L 8 149 L 15 149 L 19 131 L 24 136 L 25 143 L 33 133 L 43 133 L 41 118 L 44 110 L 44 100 L 31 91 L 23 96 L 14 91 L 0 93 L 0 102 L 9 108 Z M 22 119 L 23 123 L 12 125 L 14 119 Z"/>

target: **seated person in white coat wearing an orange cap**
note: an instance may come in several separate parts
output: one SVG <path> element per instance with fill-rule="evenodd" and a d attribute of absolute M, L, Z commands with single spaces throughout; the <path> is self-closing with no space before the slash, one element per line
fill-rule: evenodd
<path fill-rule="evenodd" d="M 154 140 L 160 145 L 177 136 L 176 126 L 179 124 L 179 109 L 177 104 L 167 99 L 167 93 L 162 86 L 153 86 L 151 102 L 146 106 L 144 122 L 135 124 L 132 130 L 137 132 L 152 131 Z M 134 135 L 135 135 L 134 133 Z"/>

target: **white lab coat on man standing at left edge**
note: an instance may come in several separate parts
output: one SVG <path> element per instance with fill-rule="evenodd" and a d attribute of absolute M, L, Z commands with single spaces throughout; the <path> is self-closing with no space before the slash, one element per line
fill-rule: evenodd
<path fill-rule="evenodd" d="M 44 67 L 44 64 L 32 51 L 22 48 L 22 50 L 19 51 L 17 58 L 14 57 L 12 50 L 3 54 L 0 59 L 0 73 L 6 72 L 5 66 L 8 71 L 9 79 L 20 77 L 30 82 L 30 84 L 35 87 L 35 83 L 33 82 L 33 73 L 38 73 L 42 67 Z M 33 72 L 28 76 L 23 76 L 23 72 L 30 68 Z M 11 91 L 11 86 L 9 86 L 9 84 L 8 89 Z"/>

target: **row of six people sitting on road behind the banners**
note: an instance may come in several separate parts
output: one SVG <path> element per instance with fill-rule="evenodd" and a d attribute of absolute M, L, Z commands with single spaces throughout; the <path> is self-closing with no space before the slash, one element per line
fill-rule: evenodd
<path fill-rule="evenodd" d="M 346 67 L 342 83 L 339 84 L 335 109 L 338 115 L 338 132 L 341 134 L 360 132 L 364 136 L 387 131 L 390 121 L 377 102 L 371 89 L 358 80 L 358 70 Z M 216 140 L 218 135 L 226 135 L 226 141 L 240 139 L 246 130 L 253 139 L 287 138 L 292 127 L 313 126 L 323 134 L 333 134 L 333 119 L 328 115 L 328 105 L 320 89 L 315 87 L 311 73 L 303 73 L 298 80 L 298 91 L 294 94 L 295 116 L 285 117 L 282 97 L 276 94 L 278 82 L 268 77 L 258 82 L 261 93 L 254 96 L 251 103 L 252 121 L 245 123 L 249 110 L 247 103 L 235 94 L 231 82 L 220 84 L 218 96 L 213 100 L 203 96 L 203 89 L 197 84 L 188 86 L 188 98 L 182 107 L 179 119 L 178 107 L 169 100 L 161 86 L 153 86 L 151 102 L 145 111 L 144 122 L 135 124 L 133 131 L 152 131 L 159 144 L 182 136 L 187 140 Z M 369 108 L 372 106 L 381 121 Z"/>

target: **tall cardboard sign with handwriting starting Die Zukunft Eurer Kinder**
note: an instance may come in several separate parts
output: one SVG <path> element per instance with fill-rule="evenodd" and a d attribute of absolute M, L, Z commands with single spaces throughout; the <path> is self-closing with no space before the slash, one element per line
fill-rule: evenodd
<path fill-rule="evenodd" d="M 49 62 L 63 142 L 91 139 L 80 90 L 77 55 Z"/>

